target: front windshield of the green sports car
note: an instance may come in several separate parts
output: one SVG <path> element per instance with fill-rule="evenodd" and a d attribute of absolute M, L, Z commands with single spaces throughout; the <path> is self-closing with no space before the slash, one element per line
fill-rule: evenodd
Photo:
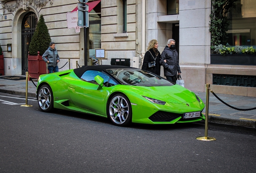
<path fill-rule="evenodd" d="M 140 69 L 107 69 L 105 70 L 111 74 L 114 78 L 125 85 L 136 86 L 172 86 L 169 80 L 158 76 L 157 74 Z"/>

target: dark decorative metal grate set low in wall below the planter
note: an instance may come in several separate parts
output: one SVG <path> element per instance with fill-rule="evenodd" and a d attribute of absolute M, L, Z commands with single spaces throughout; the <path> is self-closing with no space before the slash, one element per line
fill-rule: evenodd
<path fill-rule="evenodd" d="M 256 87 L 256 76 L 235 75 L 235 74 L 213 74 L 213 84 L 239 86 L 239 87 Z"/>

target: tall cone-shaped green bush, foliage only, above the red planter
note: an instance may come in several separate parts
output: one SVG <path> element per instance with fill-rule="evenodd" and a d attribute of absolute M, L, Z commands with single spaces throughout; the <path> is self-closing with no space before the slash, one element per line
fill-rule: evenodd
<path fill-rule="evenodd" d="M 49 47 L 51 41 L 52 39 L 50 37 L 48 28 L 45 24 L 43 15 L 41 14 L 29 44 L 29 55 L 37 55 L 38 51 L 39 55 L 43 55 L 45 50 L 47 50 Z"/>

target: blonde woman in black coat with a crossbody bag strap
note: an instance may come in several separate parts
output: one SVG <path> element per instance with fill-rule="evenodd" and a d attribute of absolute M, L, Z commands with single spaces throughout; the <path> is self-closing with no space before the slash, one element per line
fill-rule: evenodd
<path fill-rule="evenodd" d="M 161 64 L 160 60 L 160 52 L 158 51 L 158 42 L 157 40 L 153 39 L 149 42 L 148 50 L 144 55 L 143 63 L 142 63 L 142 70 L 147 70 L 149 72 L 153 72 L 160 76 Z M 148 63 L 154 62 L 155 66 L 149 68 Z"/>

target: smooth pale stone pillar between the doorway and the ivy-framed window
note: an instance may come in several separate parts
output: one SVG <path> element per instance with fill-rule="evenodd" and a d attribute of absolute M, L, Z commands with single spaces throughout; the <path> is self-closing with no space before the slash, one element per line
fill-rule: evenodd
<path fill-rule="evenodd" d="M 180 67 L 185 87 L 204 91 L 206 64 L 210 64 L 211 0 L 180 1 Z"/>

